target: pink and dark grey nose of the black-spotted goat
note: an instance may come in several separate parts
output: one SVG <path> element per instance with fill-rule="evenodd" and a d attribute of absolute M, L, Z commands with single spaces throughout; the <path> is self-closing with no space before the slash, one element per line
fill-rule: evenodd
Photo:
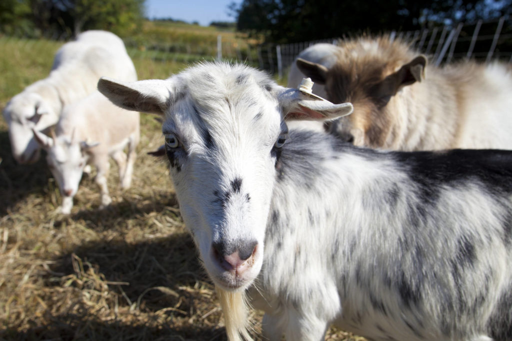
<path fill-rule="evenodd" d="M 252 259 L 258 249 L 258 242 L 237 243 L 238 247 L 229 247 L 223 243 L 212 245 L 215 259 L 227 271 L 239 274 L 252 266 Z"/>

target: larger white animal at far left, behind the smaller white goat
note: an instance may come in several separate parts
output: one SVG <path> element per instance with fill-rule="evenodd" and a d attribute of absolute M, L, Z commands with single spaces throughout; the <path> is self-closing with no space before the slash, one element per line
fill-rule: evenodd
<path fill-rule="evenodd" d="M 87 31 L 57 51 L 47 78 L 27 86 L 7 103 L 4 118 L 9 124 L 12 153 L 18 163 L 39 159 L 32 128 L 43 131 L 55 125 L 63 106 L 96 90 L 100 76 L 137 80 L 135 66 L 118 36 Z"/>

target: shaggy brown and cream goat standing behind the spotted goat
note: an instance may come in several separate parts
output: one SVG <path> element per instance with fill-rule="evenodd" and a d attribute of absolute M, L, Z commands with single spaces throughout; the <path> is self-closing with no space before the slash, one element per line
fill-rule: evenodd
<path fill-rule="evenodd" d="M 500 63 L 445 67 L 389 36 L 342 41 L 326 66 L 297 59 L 352 115 L 329 130 L 358 146 L 398 150 L 512 149 L 512 73 Z M 426 74 L 425 74 L 425 69 Z"/>

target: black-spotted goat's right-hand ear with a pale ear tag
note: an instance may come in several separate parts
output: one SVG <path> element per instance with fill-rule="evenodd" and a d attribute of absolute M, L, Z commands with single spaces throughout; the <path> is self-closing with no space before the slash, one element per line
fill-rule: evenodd
<path fill-rule="evenodd" d="M 315 95 L 279 86 L 276 89 L 278 101 L 283 108 L 286 121 L 315 120 L 329 121 L 352 113 L 351 103 L 333 104 Z"/>

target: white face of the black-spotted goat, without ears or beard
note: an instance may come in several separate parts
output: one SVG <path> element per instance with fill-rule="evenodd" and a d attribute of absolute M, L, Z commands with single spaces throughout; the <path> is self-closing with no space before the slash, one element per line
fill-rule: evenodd
<path fill-rule="evenodd" d="M 273 150 L 286 133 L 268 90 L 255 80 L 238 90 L 228 85 L 208 101 L 190 94 L 167 111 L 162 127 L 181 213 L 224 288 L 244 287 L 260 271 Z"/>

